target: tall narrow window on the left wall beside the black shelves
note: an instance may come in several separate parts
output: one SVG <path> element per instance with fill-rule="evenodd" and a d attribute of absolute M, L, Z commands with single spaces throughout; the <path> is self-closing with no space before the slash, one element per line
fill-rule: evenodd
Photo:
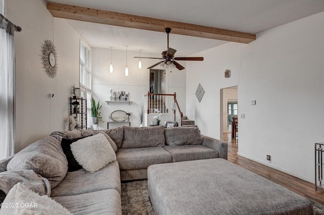
<path fill-rule="evenodd" d="M 87 99 L 87 126 L 91 125 L 91 47 L 80 41 L 80 91 L 81 97 Z"/>

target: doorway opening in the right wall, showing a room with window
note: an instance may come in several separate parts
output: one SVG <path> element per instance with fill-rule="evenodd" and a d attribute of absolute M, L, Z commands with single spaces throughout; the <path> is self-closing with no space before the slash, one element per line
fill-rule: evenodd
<path fill-rule="evenodd" d="M 223 88 L 220 91 L 220 137 L 231 133 L 232 117 L 238 114 L 237 86 Z"/>

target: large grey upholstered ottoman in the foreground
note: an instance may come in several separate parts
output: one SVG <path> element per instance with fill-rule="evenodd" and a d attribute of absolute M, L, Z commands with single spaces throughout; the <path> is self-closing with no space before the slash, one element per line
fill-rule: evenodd
<path fill-rule="evenodd" d="M 225 159 L 148 167 L 155 214 L 313 214 L 306 198 Z"/>

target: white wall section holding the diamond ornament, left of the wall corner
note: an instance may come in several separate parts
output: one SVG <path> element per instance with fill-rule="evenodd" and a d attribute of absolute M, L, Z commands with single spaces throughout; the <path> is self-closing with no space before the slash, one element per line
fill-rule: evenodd
<path fill-rule="evenodd" d="M 237 47 L 240 46 L 242 44 L 226 43 L 193 55 L 204 57 L 203 62 L 187 62 L 187 116 L 204 135 L 221 139 L 220 89 L 238 85 L 240 53 Z M 224 77 L 227 69 L 231 71 L 230 78 Z M 195 95 L 199 83 L 205 90 L 200 103 Z"/>

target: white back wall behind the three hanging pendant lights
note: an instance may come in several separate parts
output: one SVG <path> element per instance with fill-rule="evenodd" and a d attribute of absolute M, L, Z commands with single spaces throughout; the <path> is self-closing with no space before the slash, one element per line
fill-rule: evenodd
<path fill-rule="evenodd" d="M 99 124 L 99 129 L 107 129 L 107 122 L 109 121 L 109 116 L 113 111 L 123 110 L 127 113 L 132 112 L 133 115 L 130 118 L 132 126 L 139 126 L 140 119 L 138 114 L 138 109 L 140 108 L 140 103 L 147 103 L 147 97 L 144 97 L 144 94 L 147 94 L 149 91 L 149 70 L 146 69 L 151 65 L 157 63 L 157 60 L 154 59 L 142 59 L 142 69 L 138 68 L 139 59 L 134 59 L 135 56 L 139 56 L 139 51 L 128 51 L 128 68 L 129 76 L 125 76 L 125 67 L 126 67 L 126 47 L 125 50 L 114 50 L 112 49 L 112 65 L 113 73 L 109 73 L 110 66 L 110 49 L 106 48 L 92 48 L 92 94 L 96 101 L 100 101 L 102 104 L 101 116 L 104 123 Z M 141 52 L 141 56 L 145 57 L 157 57 L 160 55 Z M 185 63 L 182 64 L 185 67 Z M 160 69 L 156 67 L 156 69 Z M 186 102 L 186 71 L 179 71 L 177 69 L 166 71 L 166 74 L 163 74 L 164 78 L 168 83 L 168 92 L 173 94 L 177 93 L 177 99 L 180 105 L 181 111 L 185 112 L 185 102 Z M 113 103 L 109 102 L 109 105 L 105 101 L 109 101 L 110 88 L 117 91 L 126 91 L 129 92 L 129 100 L 132 103 Z M 144 110 L 144 113 L 147 113 Z M 167 116 L 165 116 L 166 118 Z M 161 122 L 167 120 L 164 117 L 161 117 Z M 124 125 L 124 124 L 123 124 Z M 125 124 L 127 125 L 127 124 Z M 111 126 L 111 127 L 110 127 Z M 122 126 L 118 124 L 115 126 Z M 109 128 L 113 128 L 113 125 L 109 125 Z"/>

